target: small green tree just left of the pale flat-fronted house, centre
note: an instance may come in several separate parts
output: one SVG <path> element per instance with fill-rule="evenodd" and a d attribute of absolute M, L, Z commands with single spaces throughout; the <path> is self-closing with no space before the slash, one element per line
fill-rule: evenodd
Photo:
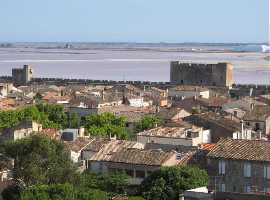
<path fill-rule="evenodd" d="M 136 134 L 149 128 L 153 128 L 154 122 L 158 123 L 158 126 L 164 124 L 162 120 L 159 120 L 154 116 L 146 115 L 141 118 L 141 121 L 133 123 L 133 131 Z"/>

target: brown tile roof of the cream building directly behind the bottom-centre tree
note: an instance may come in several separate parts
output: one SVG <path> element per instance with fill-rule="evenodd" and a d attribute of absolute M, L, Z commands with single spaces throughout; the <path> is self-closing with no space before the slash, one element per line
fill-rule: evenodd
<path fill-rule="evenodd" d="M 176 155 L 172 151 L 157 151 L 150 149 L 122 148 L 107 162 L 126 163 L 133 165 L 164 166 L 166 162 Z"/>

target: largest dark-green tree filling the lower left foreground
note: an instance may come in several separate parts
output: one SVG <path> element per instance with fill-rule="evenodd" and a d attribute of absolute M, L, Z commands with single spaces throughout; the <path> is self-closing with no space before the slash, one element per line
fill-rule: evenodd
<path fill-rule="evenodd" d="M 73 168 L 64 153 L 62 141 L 48 138 L 44 134 L 30 135 L 28 139 L 8 140 L 0 149 L 14 159 L 13 177 L 26 188 L 57 183 L 83 184 L 83 177 Z M 5 165 L 11 165 L 5 162 Z M 12 166 L 9 166 L 12 167 Z"/>

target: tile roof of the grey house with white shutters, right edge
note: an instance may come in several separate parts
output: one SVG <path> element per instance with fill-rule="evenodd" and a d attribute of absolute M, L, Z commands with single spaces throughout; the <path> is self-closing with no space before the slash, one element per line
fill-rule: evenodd
<path fill-rule="evenodd" d="M 207 157 L 270 162 L 270 141 L 221 138 Z"/>

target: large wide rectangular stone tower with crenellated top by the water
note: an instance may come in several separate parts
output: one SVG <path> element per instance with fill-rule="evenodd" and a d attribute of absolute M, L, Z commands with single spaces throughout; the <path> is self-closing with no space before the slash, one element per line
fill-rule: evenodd
<path fill-rule="evenodd" d="M 170 62 L 170 84 L 231 87 L 233 65 Z"/>

